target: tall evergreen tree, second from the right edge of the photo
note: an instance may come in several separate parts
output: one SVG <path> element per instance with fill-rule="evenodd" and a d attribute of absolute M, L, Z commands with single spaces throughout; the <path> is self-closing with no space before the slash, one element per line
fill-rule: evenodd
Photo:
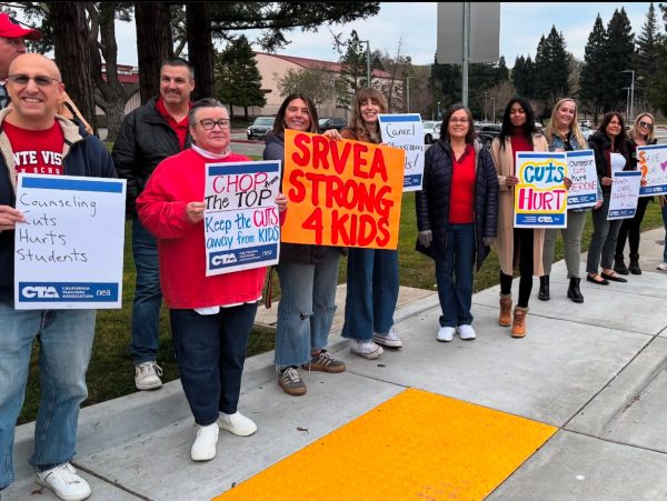
<path fill-rule="evenodd" d="M 630 20 L 624 8 L 616 9 L 607 24 L 607 50 L 603 83 L 606 96 L 604 111 L 625 110 L 627 90 L 630 87 L 630 73 L 626 70 L 635 69 L 635 36 Z"/>

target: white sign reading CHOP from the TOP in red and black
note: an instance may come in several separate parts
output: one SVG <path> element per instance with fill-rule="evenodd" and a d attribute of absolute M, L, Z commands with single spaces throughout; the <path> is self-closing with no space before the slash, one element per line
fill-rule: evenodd
<path fill-rule="evenodd" d="M 278 263 L 280 161 L 207 163 L 206 275 Z"/>

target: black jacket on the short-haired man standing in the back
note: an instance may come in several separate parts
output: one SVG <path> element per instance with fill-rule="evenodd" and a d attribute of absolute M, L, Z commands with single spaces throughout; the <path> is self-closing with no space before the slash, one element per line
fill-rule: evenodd
<path fill-rule="evenodd" d="M 188 131 L 185 148 L 191 144 Z M 137 213 L 137 197 L 158 163 L 180 151 L 178 136 L 156 109 L 156 98 L 128 113 L 111 152 L 118 176 L 128 180 L 128 216 Z"/>

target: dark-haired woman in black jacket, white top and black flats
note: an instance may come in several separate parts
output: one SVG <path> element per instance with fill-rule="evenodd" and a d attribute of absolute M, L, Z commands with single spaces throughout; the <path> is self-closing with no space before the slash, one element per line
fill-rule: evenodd
<path fill-rule="evenodd" d="M 586 260 L 586 280 L 598 285 L 608 285 L 608 280 L 627 282 L 613 269 L 616 239 L 623 220 L 607 220 L 614 183 L 611 173 L 630 169 L 625 123 L 618 111 L 605 114 L 596 133 L 588 139 L 588 146 L 595 152 L 595 167 L 603 187 L 603 204 L 593 211 L 593 237 Z M 600 264 L 603 272 L 598 274 Z"/>

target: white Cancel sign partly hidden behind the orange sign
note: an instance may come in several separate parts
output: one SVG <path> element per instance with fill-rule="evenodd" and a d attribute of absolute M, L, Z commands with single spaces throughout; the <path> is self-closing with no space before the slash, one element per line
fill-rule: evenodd
<path fill-rule="evenodd" d="M 424 126 L 419 113 L 378 114 L 382 142 L 406 150 L 404 191 L 421 190 Z"/>

